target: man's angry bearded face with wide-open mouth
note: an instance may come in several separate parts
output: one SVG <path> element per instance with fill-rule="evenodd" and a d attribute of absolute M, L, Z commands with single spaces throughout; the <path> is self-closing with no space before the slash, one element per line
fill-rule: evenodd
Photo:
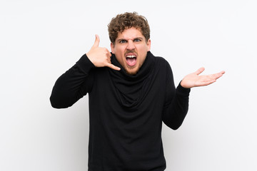
<path fill-rule="evenodd" d="M 147 51 L 150 51 L 151 40 L 143 36 L 137 28 L 125 29 L 118 33 L 114 43 L 111 43 L 111 52 L 124 67 L 127 73 L 134 75 L 143 65 Z"/>

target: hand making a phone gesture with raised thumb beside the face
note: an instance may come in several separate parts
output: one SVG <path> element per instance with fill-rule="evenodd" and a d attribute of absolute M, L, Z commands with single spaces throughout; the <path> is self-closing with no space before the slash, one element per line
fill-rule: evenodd
<path fill-rule="evenodd" d="M 90 51 L 86 53 L 86 56 L 89 58 L 89 60 L 96 67 L 107 66 L 117 71 L 121 70 L 121 68 L 119 68 L 118 66 L 114 66 L 113 64 L 111 64 L 111 53 L 108 51 L 107 48 L 99 47 L 99 42 L 100 38 L 96 34 L 96 41 L 94 42 L 94 45 L 92 46 Z"/>

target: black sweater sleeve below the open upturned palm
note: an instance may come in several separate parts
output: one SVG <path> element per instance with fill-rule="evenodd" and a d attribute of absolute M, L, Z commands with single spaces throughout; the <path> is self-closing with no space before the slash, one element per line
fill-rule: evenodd
<path fill-rule="evenodd" d="M 188 112 L 188 98 L 191 89 L 183 88 L 180 83 L 178 84 L 178 87 L 175 88 L 170 66 L 168 67 L 168 70 L 163 123 L 169 128 L 177 130 L 182 125 Z"/>

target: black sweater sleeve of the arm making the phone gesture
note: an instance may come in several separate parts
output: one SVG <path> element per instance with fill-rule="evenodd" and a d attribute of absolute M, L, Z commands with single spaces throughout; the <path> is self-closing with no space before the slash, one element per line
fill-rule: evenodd
<path fill-rule="evenodd" d="M 84 54 L 68 71 L 62 74 L 54 84 L 50 102 L 54 108 L 68 108 L 89 93 L 93 87 L 95 68 Z"/>

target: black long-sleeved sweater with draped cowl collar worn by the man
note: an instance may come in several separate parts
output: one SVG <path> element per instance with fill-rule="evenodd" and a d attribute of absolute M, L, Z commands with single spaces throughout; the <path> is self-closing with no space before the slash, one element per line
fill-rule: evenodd
<path fill-rule="evenodd" d="M 175 88 L 168 62 L 147 53 L 131 76 L 96 68 L 86 55 L 56 81 L 54 108 L 68 108 L 89 93 L 89 171 L 163 171 L 162 122 L 176 130 L 188 111 L 190 89 Z"/>

